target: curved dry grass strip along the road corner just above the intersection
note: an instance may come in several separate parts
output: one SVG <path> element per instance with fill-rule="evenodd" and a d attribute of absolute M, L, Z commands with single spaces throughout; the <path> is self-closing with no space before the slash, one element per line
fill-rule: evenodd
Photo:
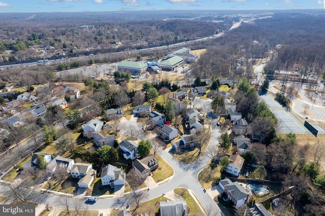
<path fill-rule="evenodd" d="M 209 131 L 209 133 L 206 136 L 210 137 L 211 131 Z M 195 148 L 195 149 L 182 150 L 181 152 L 179 152 L 179 154 L 174 153 L 173 156 L 180 162 L 193 163 L 193 162 L 197 161 L 203 155 L 205 149 L 208 147 L 208 144 L 209 144 L 209 139 L 206 140 L 206 142 L 202 145 L 200 155 L 199 155 L 199 149 Z"/>

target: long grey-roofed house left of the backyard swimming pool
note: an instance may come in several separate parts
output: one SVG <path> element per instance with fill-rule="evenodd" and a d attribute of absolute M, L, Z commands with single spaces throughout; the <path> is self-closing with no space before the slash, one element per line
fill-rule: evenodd
<path fill-rule="evenodd" d="M 224 190 L 228 199 L 234 203 L 235 207 L 247 204 L 250 195 L 238 182 L 233 183 L 230 180 L 223 179 L 219 181 L 219 186 Z"/>

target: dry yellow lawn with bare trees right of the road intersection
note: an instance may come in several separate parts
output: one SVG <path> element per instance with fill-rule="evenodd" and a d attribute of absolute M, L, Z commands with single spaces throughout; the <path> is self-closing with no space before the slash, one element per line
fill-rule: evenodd
<path fill-rule="evenodd" d="M 202 169 L 202 171 L 198 175 L 200 184 L 206 189 L 211 188 L 213 184 L 216 183 L 216 179 L 220 177 L 221 177 L 220 166 L 211 169 L 211 167 L 207 165 Z"/>

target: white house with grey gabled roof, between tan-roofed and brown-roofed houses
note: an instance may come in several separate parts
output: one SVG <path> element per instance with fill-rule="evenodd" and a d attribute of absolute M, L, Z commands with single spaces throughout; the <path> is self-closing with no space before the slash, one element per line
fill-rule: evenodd
<path fill-rule="evenodd" d="M 104 166 L 101 175 L 102 185 L 109 185 L 114 188 L 117 185 L 125 185 L 125 173 L 121 168 L 111 164 Z"/>

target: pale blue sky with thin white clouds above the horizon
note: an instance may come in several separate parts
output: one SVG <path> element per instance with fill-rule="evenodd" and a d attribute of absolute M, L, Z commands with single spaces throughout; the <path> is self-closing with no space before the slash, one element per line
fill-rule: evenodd
<path fill-rule="evenodd" d="M 324 0 L 0 0 L 0 13 L 324 8 Z"/>

